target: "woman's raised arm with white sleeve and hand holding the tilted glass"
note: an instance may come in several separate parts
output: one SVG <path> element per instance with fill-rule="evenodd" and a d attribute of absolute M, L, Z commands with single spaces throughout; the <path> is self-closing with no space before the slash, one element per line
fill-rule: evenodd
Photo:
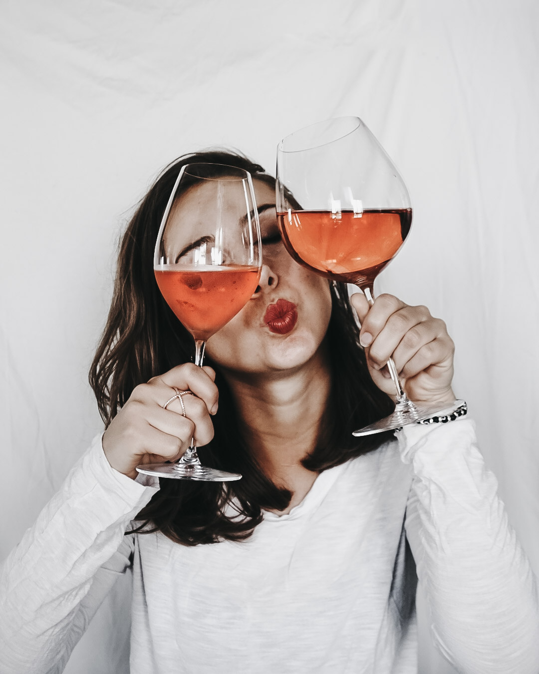
<path fill-rule="evenodd" d="M 454 400 L 453 341 L 426 307 L 352 295 L 375 384 L 394 394 L 390 355 L 411 400 Z M 536 580 L 497 497 L 470 421 L 407 427 L 402 458 L 414 478 L 406 530 L 443 654 L 466 674 L 538 674 Z"/>

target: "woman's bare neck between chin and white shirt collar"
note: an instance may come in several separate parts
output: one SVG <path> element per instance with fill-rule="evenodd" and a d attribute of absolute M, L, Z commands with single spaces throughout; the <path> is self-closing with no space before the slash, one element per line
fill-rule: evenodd
<path fill-rule="evenodd" d="M 236 400 L 245 439 L 267 477 L 294 493 L 305 491 L 302 485 L 312 478 L 309 491 L 316 474 L 304 468 L 301 460 L 315 449 L 329 395 L 324 350 L 293 371 L 271 375 L 225 371 L 224 376 Z"/>

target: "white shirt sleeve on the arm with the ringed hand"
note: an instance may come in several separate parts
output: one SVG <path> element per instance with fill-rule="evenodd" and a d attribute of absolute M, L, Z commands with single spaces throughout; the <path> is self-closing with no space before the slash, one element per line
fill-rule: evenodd
<path fill-rule="evenodd" d="M 158 491 L 108 463 L 101 436 L 0 568 L 0 670 L 63 671 L 119 574 L 131 563 L 129 522 Z"/>

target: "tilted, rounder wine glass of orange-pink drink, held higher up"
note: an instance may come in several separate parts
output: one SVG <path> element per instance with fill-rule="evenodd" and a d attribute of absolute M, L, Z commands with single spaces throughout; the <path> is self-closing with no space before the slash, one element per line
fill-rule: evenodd
<path fill-rule="evenodd" d="M 400 251 L 412 224 L 410 197 L 397 169 L 358 117 L 338 117 L 295 131 L 277 148 L 280 230 L 296 262 L 334 281 L 354 283 L 373 305 L 375 278 Z M 449 415 L 406 396 L 393 359 L 395 411 L 354 435 L 369 435 Z"/>

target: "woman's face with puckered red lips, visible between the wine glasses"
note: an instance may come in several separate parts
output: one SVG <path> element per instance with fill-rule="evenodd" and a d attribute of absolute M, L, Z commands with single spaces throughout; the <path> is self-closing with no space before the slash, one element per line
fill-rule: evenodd
<path fill-rule="evenodd" d="M 247 305 L 208 340 L 220 367 L 278 374 L 301 367 L 321 348 L 331 315 L 325 278 L 294 262 L 281 241 L 275 191 L 253 181 L 263 243 L 259 286 Z"/>

